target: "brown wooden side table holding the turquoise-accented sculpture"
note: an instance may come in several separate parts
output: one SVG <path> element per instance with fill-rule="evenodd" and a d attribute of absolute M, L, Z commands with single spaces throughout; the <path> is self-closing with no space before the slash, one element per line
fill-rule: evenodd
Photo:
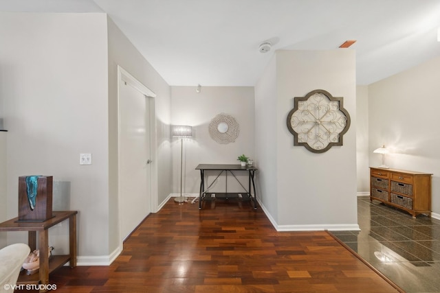
<path fill-rule="evenodd" d="M 0 223 L 0 231 L 28 231 L 28 245 L 31 251 L 36 249 L 36 231 L 39 232 L 40 269 L 38 274 L 20 273 L 17 284 L 49 284 L 49 274 L 70 261 L 76 266 L 76 214 L 78 211 L 53 211 L 53 218 L 44 222 L 17 222 L 13 218 Z M 53 255 L 49 261 L 49 228 L 69 219 L 69 255 Z"/>

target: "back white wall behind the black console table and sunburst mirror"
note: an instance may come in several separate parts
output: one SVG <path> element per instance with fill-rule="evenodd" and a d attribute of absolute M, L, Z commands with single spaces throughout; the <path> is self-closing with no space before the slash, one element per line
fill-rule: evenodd
<path fill-rule="evenodd" d="M 219 144 L 210 137 L 210 121 L 220 113 L 232 115 L 239 123 L 239 136 L 234 143 Z M 200 163 L 238 164 L 236 158 L 241 154 L 255 159 L 253 87 L 202 86 L 201 93 L 196 93 L 195 86 L 171 86 L 171 117 L 171 124 L 189 125 L 193 131 L 192 139 L 184 139 L 184 194 L 199 194 L 200 173 L 195 167 Z M 171 140 L 175 194 L 180 192 L 180 143 L 180 139 Z M 258 162 L 255 163 L 258 167 Z M 228 191 L 243 190 L 234 189 L 239 188 L 239 185 L 233 182 L 228 177 Z M 224 186 L 222 177 L 212 191 L 224 190 Z"/>

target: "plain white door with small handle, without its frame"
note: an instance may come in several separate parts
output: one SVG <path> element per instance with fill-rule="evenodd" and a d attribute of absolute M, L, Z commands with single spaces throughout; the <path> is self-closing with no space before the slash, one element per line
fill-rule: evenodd
<path fill-rule="evenodd" d="M 124 80 L 119 88 L 119 210 L 124 240 L 151 213 L 151 98 Z"/>

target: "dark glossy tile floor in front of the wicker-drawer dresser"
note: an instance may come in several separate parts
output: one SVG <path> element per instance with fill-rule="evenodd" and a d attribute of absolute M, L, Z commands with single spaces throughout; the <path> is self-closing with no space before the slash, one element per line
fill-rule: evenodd
<path fill-rule="evenodd" d="M 361 231 L 331 231 L 406 292 L 440 292 L 440 221 L 358 198 Z"/>

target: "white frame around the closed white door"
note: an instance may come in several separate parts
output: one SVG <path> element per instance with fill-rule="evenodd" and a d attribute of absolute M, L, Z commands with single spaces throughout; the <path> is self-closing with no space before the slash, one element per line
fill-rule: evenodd
<path fill-rule="evenodd" d="M 142 82 L 137 80 L 133 77 L 128 71 L 120 67 L 118 65 L 118 239 L 120 239 L 121 242 L 121 248 L 123 247 L 123 241 L 122 239 L 122 226 L 121 226 L 121 211 L 120 211 L 120 202 L 122 200 L 121 198 L 121 191 L 120 191 L 120 89 L 122 84 L 126 83 L 132 86 L 134 89 L 142 93 L 142 95 L 145 96 L 146 102 L 148 103 L 149 113 L 149 124 L 150 124 L 150 156 L 151 156 L 151 169 L 150 169 L 150 207 L 151 207 L 151 213 L 157 212 L 157 132 L 156 132 L 156 110 L 155 110 L 155 97 L 156 94 L 151 91 L 151 89 L 148 89 Z"/>

